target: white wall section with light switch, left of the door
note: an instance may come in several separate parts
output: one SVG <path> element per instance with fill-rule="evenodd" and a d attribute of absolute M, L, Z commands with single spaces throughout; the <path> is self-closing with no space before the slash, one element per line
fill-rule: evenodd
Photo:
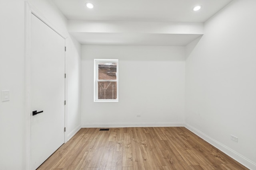
<path fill-rule="evenodd" d="M 24 1 L 1 1 L 0 20 L 0 169 L 25 169 Z"/>

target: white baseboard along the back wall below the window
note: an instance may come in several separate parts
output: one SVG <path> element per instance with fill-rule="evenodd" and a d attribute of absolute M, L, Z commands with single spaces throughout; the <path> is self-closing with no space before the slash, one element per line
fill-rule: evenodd
<path fill-rule="evenodd" d="M 81 127 L 179 127 L 184 123 L 84 123 Z"/>

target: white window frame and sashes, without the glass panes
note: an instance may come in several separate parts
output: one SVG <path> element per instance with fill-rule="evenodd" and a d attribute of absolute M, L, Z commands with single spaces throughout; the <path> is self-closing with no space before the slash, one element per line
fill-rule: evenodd
<path fill-rule="evenodd" d="M 98 80 L 98 63 L 116 63 L 116 80 Z M 98 82 L 116 82 L 116 99 L 98 99 Z M 118 102 L 118 59 L 94 59 L 94 102 Z"/>

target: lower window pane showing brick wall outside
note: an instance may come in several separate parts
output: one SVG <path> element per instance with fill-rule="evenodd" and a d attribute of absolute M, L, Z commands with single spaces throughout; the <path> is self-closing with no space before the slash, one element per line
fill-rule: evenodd
<path fill-rule="evenodd" d="M 98 82 L 98 99 L 116 99 L 116 82 Z"/>

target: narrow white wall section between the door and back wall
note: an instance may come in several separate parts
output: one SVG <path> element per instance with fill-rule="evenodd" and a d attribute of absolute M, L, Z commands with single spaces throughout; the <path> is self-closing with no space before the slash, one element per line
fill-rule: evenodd
<path fill-rule="evenodd" d="M 81 45 L 66 39 L 66 113 L 68 140 L 81 128 Z"/>

